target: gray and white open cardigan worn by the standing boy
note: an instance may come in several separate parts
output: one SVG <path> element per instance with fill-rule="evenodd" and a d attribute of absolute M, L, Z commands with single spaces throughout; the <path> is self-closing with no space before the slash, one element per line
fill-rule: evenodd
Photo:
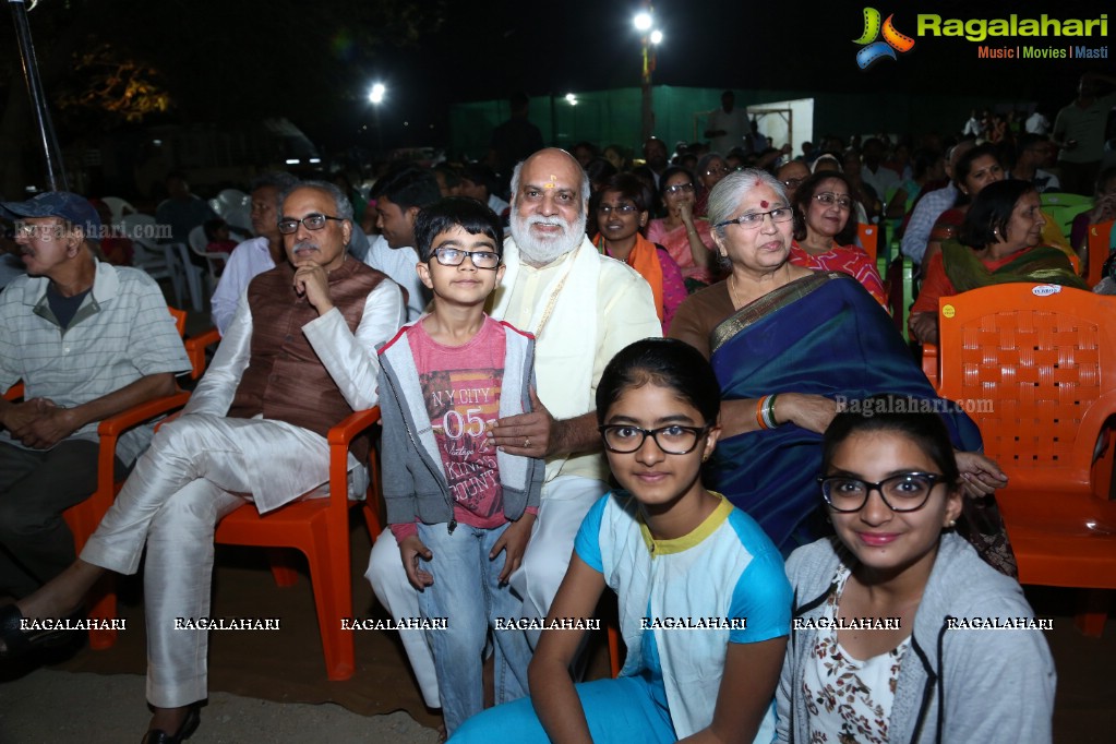
<path fill-rule="evenodd" d="M 504 357 L 500 417 L 503 418 L 530 410 L 535 337 L 508 323 L 501 325 Z M 395 338 L 378 347 L 379 409 L 384 424 L 382 482 L 387 522 L 403 524 L 417 519 L 425 524 L 455 524 L 450 485 L 431 428 L 411 344 L 406 340 L 408 328 L 410 325 L 404 326 Z M 498 451 L 497 466 L 503 491 L 503 513 L 513 522 L 522 516 L 527 506 L 539 505 L 545 465 L 535 457 Z"/>

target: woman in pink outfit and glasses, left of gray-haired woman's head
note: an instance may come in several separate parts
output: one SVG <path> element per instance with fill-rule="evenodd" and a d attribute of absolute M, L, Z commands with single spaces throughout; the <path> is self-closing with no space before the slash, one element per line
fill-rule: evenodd
<path fill-rule="evenodd" d="M 647 240 L 658 243 L 682 268 L 691 292 L 713 281 L 713 253 L 709 222 L 694 216 L 698 193 L 690 171 L 671 166 L 658 177 L 658 196 L 666 216 L 652 220 Z"/>

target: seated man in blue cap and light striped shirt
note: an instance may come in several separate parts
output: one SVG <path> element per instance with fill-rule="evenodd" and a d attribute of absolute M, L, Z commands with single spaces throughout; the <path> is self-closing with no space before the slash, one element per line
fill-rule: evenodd
<path fill-rule="evenodd" d="M 94 257 L 88 201 L 48 192 L 0 202 L 0 216 L 28 274 L 0 293 L 0 393 L 25 386 L 22 403 L 0 399 L 0 596 L 18 598 L 74 561 L 61 513 L 96 489 L 97 424 L 173 393 L 190 361 L 154 280 Z M 118 470 L 151 434 L 121 436 Z"/>

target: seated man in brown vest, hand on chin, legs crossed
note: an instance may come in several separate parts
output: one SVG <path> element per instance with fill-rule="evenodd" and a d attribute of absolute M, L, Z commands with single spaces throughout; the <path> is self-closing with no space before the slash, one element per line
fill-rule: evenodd
<path fill-rule="evenodd" d="M 146 543 L 155 715 L 145 742 L 177 742 L 198 726 L 208 632 L 175 621 L 209 616 L 217 523 L 246 499 L 266 512 L 318 489 L 328 480 L 326 432 L 377 403 L 376 344 L 406 316 L 398 286 L 346 253 L 352 218 L 331 184 L 285 194 L 287 262 L 251 281 L 182 417 L 155 435 L 80 559 L 0 608 L 8 653 L 31 646 L 38 639 L 19 629 L 20 617 L 71 610 L 104 570 L 134 573 Z M 350 493 L 364 492 L 366 454 L 349 455 Z"/>

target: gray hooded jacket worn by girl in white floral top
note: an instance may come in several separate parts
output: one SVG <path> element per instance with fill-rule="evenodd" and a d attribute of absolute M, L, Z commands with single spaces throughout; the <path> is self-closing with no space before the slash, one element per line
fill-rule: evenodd
<path fill-rule="evenodd" d="M 835 538 L 787 560 L 796 618 L 818 618 L 837 566 L 855 558 Z M 1019 583 L 984 563 L 953 533 L 942 535 L 915 613 L 888 722 L 892 742 L 1031 744 L 1050 741 L 1055 669 L 1041 630 L 947 629 L 947 618 L 1032 618 Z M 809 742 L 799 692 L 817 630 L 791 630 L 779 679 L 780 742 Z"/>

